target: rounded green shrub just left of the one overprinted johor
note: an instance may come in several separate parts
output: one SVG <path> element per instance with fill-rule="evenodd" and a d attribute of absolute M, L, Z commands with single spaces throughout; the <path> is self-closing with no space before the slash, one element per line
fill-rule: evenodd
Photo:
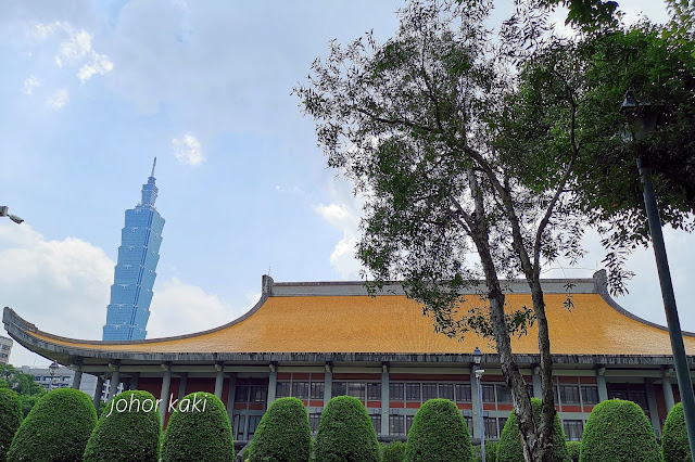
<path fill-rule="evenodd" d="M 39 399 L 12 439 L 8 462 L 74 462 L 83 459 L 97 411 L 89 396 L 60 388 Z"/>

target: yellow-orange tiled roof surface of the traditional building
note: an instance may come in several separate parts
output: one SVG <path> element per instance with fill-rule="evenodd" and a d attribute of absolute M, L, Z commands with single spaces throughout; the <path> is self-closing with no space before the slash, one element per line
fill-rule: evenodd
<path fill-rule="evenodd" d="M 511 294 L 507 300 L 515 308 L 531 307 L 530 295 Z M 553 354 L 671 355 L 668 332 L 629 318 L 599 294 L 576 294 L 571 311 L 565 300 L 564 294 L 545 295 Z M 538 354 L 536 332 L 534 326 L 528 336 L 513 338 L 514 352 Z M 431 319 L 403 295 L 270 296 L 247 319 L 176 339 L 105 344 L 27 334 L 58 345 L 124 352 L 470 354 L 476 346 L 496 352 L 475 334 L 458 342 L 434 333 Z M 686 352 L 695 354 L 695 337 L 684 341 Z"/>

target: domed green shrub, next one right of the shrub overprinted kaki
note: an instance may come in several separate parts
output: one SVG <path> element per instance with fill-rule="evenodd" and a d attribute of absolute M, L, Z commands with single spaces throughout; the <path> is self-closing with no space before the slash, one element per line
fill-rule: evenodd
<path fill-rule="evenodd" d="M 279 398 L 261 419 L 249 448 L 249 461 L 307 461 L 312 428 L 306 408 L 296 398 Z"/>

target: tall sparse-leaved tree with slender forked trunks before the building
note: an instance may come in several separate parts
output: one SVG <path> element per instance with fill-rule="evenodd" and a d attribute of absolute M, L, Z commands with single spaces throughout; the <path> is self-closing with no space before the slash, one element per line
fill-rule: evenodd
<path fill-rule="evenodd" d="M 525 63 L 514 51 L 518 23 L 506 23 L 494 44 L 483 25 L 490 5 L 467 3 L 464 14 L 412 1 L 386 43 L 371 34 L 345 48 L 331 42 L 329 56 L 313 63 L 308 84 L 294 92 L 316 120 L 328 165 L 366 198 L 357 254 L 374 278 L 372 293 L 401 279 L 439 332 L 494 338 L 525 459 L 549 461 L 553 363 L 540 274 L 558 256 L 582 254 L 580 214 L 564 194 L 580 154 L 578 94 L 563 88 L 558 110 L 570 123 L 552 133 L 554 156 L 511 149 L 511 134 L 502 130 Z M 526 36 L 532 46 L 540 39 L 533 34 Z M 566 70 L 571 78 L 573 69 Z M 532 308 L 511 307 L 504 295 L 500 278 L 519 273 Z M 465 290 L 481 301 L 462 312 Z M 510 334 L 523 334 L 532 323 L 539 332 L 540 424 L 510 344 Z"/>

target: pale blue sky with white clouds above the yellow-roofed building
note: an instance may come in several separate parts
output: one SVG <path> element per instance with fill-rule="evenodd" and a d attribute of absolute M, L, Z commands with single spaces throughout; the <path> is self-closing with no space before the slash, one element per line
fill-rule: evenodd
<path fill-rule="evenodd" d="M 41 330 L 100 338 L 124 210 L 157 156 L 166 219 L 149 337 L 212 328 L 276 281 L 358 279 L 359 205 L 326 168 L 296 97 L 328 41 L 396 28 L 402 1 L 0 3 L 0 305 Z M 649 0 L 622 1 L 666 20 Z M 504 10 L 504 8 L 502 8 Z M 560 15 L 558 15 L 560 17 Z M 667 232 L 684 329 L 693 238 Z M 596 240 L 572 270 L 603 258 Z M 629 310 L 664 322 L 650 253 Z M 18 345 L 16 365 L 47 363 Z"/>

